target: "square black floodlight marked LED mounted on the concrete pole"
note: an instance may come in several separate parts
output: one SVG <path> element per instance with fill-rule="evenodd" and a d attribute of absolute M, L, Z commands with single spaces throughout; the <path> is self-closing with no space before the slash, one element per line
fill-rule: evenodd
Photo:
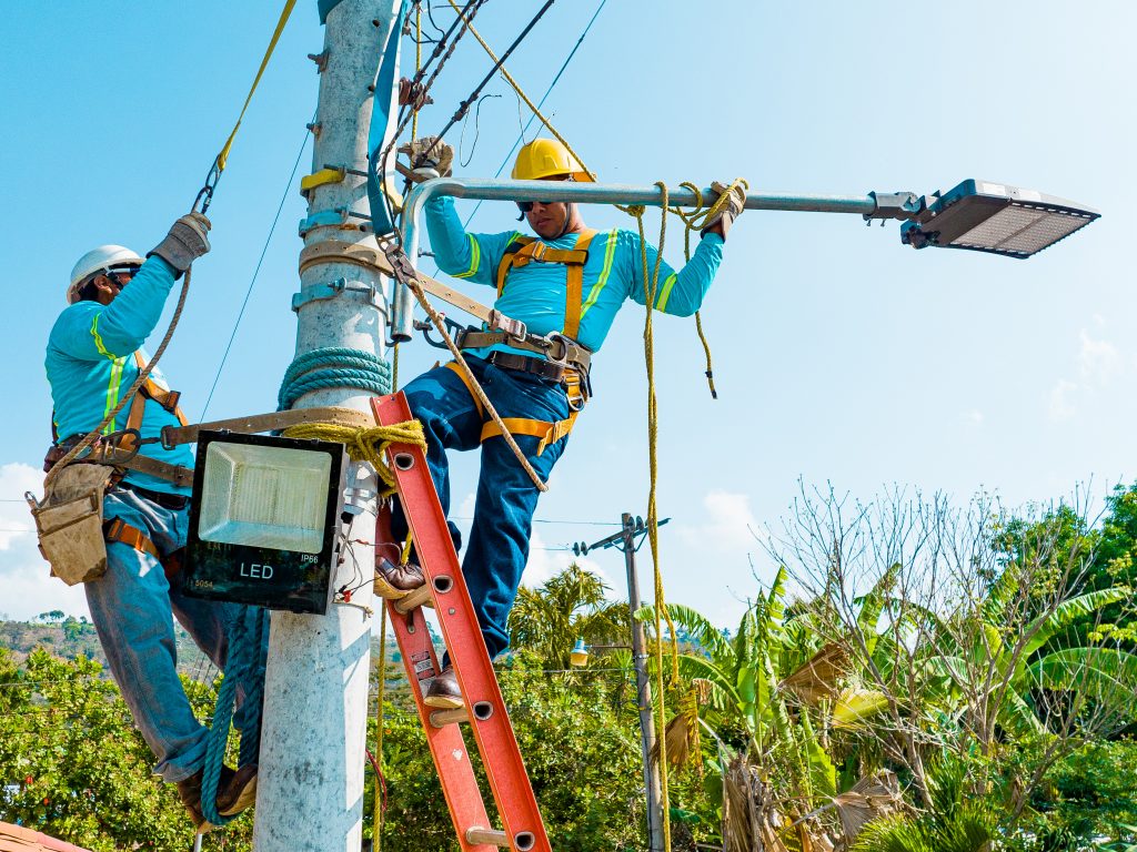
<path fill-rule="evenodd" d="M 343 444 L 202 432 L 185 594 L 325 612 L 346 471 Z"/>

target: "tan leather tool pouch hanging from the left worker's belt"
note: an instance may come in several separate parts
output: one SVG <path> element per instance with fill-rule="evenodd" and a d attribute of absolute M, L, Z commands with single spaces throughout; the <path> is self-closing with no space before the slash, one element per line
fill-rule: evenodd
<path fill-rule="evenodd" d="M 114 476 L 115 468 L 107 465 L 68 465 L 32 509 L 40 552 L 51 563 L 51 576 L 68 586 L 107 571 L 102 495 Z"/>

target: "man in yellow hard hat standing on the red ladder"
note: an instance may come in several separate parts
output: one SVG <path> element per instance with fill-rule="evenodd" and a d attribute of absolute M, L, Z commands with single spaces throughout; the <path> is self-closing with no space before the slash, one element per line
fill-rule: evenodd
<path fill-rule="evenodd" d="M 446 175 L 454 159 L 450 145 L 423 137 L 406 147 L 412 166 Z M 559 141 L 538 139 L 517 153 L 513 177 L 520 181 L 592 181 Z M 722 260 L 731 223 L 742 212 L 740 182 L 715 184 L 727 200 L 702 232 L 690 261 L 679 270 L 658 266 L 654 309 L 690 316 L 703 303 Z M 528 461 L 542 481 L 564 452 L 568 432 L 591 392 L 591 358 L 628 301 L 647 303 L 644 258 L 650 275 L 658 252 L 625 229 L 591 231 L 580 208 L 562 201 L 520 202 L 521 218 L 537 235 L 517 231 L 466 233 L 449 195 L 432 198 L 425 208 L 431 249 L 442 272 L 497 289 L 495 309 L 525 324 L 542 341 L 530 345 L 501 329 L 471 329 L 459 348 Z M 547 344 L 547 345 L 546 345 Z M 489 419 L 456 364 L 437 367 L 404 391 L 412 414 L 422 421 L 426 460 L 434 487 L 449 511 L 450 483 L 446 451 L 481 448 L 474 518 L 462 570 L 491 658 L 509 645 L 508 615 L 529 559 L 529 540 L 539 491 Z M 457 528 L 451 536 L 460 545 Z M 392 517 L 396 537 L 406 534 L 400 511 Z M 398 598 L 423 585 L 414 561 L 399 563 L 392 550 L 376 552 L 375 588 Z M 431 707 L 462 705 L 453 669 L 443 663 L 425 695 Z"/>

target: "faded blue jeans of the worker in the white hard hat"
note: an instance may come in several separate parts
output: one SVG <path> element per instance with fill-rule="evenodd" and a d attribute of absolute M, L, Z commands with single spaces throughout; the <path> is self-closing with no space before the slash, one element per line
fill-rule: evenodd
<path fill-rule="evenodd" d="M 185 544 L 189 509 L 166 509 L 127 488 L 113 488 L 102 503 L 107 520 L 122 518 L 166 556 Z M 193 775 L 205 763 L 208 730 L 193 716 L 177 677 L 174 617 L 218 669 L 229 657 L 229 626 L 243 607 L 185 598 L 182 575 L 167 582 L 157 559 L 122 542 L 107 544 L 107 573 L 86 584 L 86 601 L 110 673 L 158 759 L 155 772 L 167 782 Z M 267 632 L 266 632 L 267 633 Z M 267 636 L 254 677 L 264 678 Z M 242 703 L 247 685 L 238 685 Z M 249 709 L 250 711 L 252 708 Z M 259 708 L 256 709 L 259 711 Z M 246 726 L 243 708 L 234 715 Z"/>

